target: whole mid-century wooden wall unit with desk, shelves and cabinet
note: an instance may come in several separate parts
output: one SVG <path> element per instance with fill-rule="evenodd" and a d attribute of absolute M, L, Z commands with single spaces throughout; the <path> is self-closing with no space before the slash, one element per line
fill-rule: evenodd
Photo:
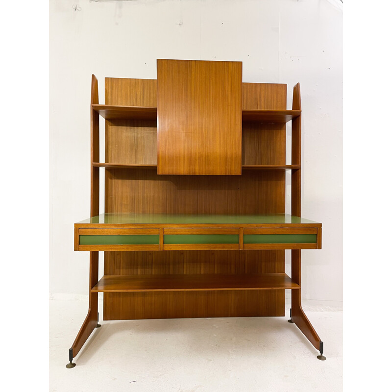
<path fill-rule="evenodd" d="M 67 367 L 100 326 L 99 292 L 103 319 L 125 320 L 284 316 L 292 290 L 289 321 L 325 359 L 301 307 L 301 249 L 321 248 L 321 223 L 301 218 L 299 84 L 292 110 L 286 90 L 243 83 L 241 62 L 157 60 L 157 80 L 105 78 L 102 105 L 92 76 L 91 218 L 74 225 L 75 250 L 90 252 L 89 310 Z M 285 214 L 287 171 L 292 215 Z M 292 249 L 291 277 L 285 249 Z"/>

